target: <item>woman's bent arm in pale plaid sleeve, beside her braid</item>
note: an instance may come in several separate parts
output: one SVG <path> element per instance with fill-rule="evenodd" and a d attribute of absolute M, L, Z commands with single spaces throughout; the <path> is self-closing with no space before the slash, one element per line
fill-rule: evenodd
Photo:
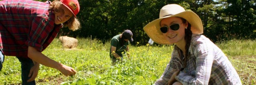
<path fill-rule="evenodd" d="M 213 43 L 207 43 L 206 40 L 194 41 L 192 40 L 191 52 L 193 56 L 190 56 L 188 61 L 193 61 L 195 63 L 187 65 L 195 65 L 195 75 L 189 75 L 180 71 L 180 73 L 175 77 L 175 79 L 181 82 L 183 85 L 199 84 L 207 85 L 209 83 L 209 78 L 212 69 L 212 63 L 214 60 L 214 48 Z M 192 58 L 195 57 L 195 58 Z M 194 59 L 194 60 L 193 60 Z"/>

